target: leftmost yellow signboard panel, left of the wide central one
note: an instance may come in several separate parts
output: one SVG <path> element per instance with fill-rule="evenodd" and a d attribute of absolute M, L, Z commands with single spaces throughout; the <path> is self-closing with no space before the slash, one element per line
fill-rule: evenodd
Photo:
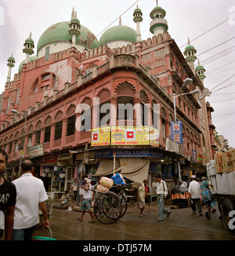
<path fill-rule="evenodd" d="M 110 145 L 110 127 L 92 129 L 92 146 Z"/>

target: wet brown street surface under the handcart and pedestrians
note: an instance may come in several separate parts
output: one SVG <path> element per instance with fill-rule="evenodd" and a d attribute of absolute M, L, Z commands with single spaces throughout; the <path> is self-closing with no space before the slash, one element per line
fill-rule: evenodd
<path fill-rule="evenodd" d="M 96 223 L 89 223 L 89 214 L 80 222 L 79 211 L 53 209 L 49 221 L 56 240 L 235 240 L 235 233 L 219 220 L 219 210 L 211 213 L 210 220 L 193 215 L 189 207 L 172 210 L 170 217 L 164 215 L 162 222 L 157 222 L 157 210 L 149 213 L 146 208 L 145 214 L 139 217 L 136 207 L 136 211 L 126 213 L 115 223 L 104 225 L 97 219 Z M 42 231 L 38 225 L 34 236 L 49 236 L 49 230 Z"/>

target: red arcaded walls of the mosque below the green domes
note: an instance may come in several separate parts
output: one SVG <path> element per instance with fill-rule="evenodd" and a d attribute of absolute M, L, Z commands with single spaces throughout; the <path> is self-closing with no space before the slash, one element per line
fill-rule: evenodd
<path fill-rule="evenodd" d="M 49 60 L 42 57 L 24 64 L 13 81 L 5 84 L 0 104 L 0 147 L 8 152 L 11 168 L 17 168 L 21 138 L 24 137 L 24 118 L 11 112 L 16 109 L 20 113 L 27 112 L 24 158 L 28 157 L 27 147 L 36 144 L 43 144 L 44 156 L 67 154 L 69 150 L 83 152 L 85 144 L 89 144 L 92 155 L 97 148 L 90 147 L 91 131 L 75 129 L 75 120 L 81 115 L 76 113 L 76 107 L 81 103 L 89 104 L 92 128 L 95 128 L 97 119 L 93 98 L 99 97 L 100 104 L 115 106 L 120 102 L 150 104 L 151 108 L 153 104 L 160 104 L 158 128 L 160 148 L 164 152 L 166 139 L 170 137 L 170 122 L 174 120 L 172 93 L 177 93 L 186 78 L 193 79 L 193 84 L 185 86 L 181 93 L 195 88 L 203 90 L 201 80 L 194 75 L 168 32 L 119 49 L 100 46 L 80 53 L 71 47 L 52 53 Z M 192 150 L 204 154 L 200 108 L 197 96 L 189 94 L 176 99 L 177 119 L 183 122 L 186 159 L 190 159 Z M 149 126 L 153 125 L 152 115 L 147 122 Z M 128 126 L 128 120 L 123 124 Z M 117 125 L 117 116 L 108 125 Z M 77 160 L 81 161 L 81 156 Z M 201 163 L 188 163 L 186 170 L 204 171 Z"/>

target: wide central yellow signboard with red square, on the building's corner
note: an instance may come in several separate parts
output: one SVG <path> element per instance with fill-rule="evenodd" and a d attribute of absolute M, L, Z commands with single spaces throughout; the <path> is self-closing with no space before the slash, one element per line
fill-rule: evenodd
<path fill-rule="evenodd" d="M 112 126 L 112 145 L 144 145 L 150 144 L 149 126 Z"/>

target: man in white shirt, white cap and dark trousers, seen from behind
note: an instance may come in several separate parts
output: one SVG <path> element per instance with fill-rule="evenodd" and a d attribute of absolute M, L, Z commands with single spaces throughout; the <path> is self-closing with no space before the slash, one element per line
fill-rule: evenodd
<path fill-rule="evenodd" d="M 196 181 L 195 175 L 192 176 L 192 180 L 193 181 L 190 182 L 190 186 L 189 186 L 189 192 L 190 192 L 191 199 L 192 199 L 191 208 L 193 210 L 193 214 L 196 214 L 196 208 L 197 208 L 198 213 L 200 214 L 200 216 L 202 216 L 200 184 Z"/>

